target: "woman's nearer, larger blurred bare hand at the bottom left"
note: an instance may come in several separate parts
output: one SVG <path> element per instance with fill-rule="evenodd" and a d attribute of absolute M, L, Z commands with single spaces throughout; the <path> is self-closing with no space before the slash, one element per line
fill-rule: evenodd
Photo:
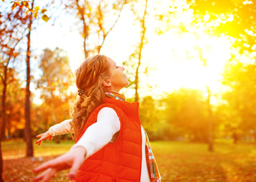
<path fill-rule="evenodd" d="M 73 150 L 68 151 L 67 153 L 49 160 L 39 167 L 33 170 L 34 173 L 39 173 L 42 171 L 42 174 L 33 178 L 34 181 L 47 182 L 50 180 L 58 171 L 70 169 L 69 179 L 73 179 L 76 173 L 78 172 L 79 167 L 82 165 L 86 156 L 85 148 L 77 146 Z"/>

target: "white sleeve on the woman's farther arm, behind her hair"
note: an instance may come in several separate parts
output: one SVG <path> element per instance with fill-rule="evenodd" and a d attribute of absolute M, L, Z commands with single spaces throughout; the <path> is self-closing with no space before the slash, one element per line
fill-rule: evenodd
<path fill-rule="evenodd" d="M 70 122 L 71 119 L 67 119 L 65 121 L 62 121 L 59 124 L 55 124 L 54 126 L 51 126 L 48 131 L 51 136 L 54 136 L 56 134 L 66 134 L 66 133 L 74 133 L 74 131 L 71 129 Z"/>

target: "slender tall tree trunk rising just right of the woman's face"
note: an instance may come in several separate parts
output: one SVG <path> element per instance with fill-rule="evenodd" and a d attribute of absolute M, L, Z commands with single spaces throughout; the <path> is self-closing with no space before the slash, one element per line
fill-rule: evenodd
<path fill-rule="evenodd" d="M 138 95 L 138 69 L 140 67 L 140 60 L 141 60 L 141 52 L 142 52 L 142 48 L 144 46 L 144 37 L 145 37 L 145 32 L 146 32 L 146 27 L 145 27 L 145 16 L 147 13 L 147 0 L 145 2 L 145 10 L 144 10 L 144 15 L 143 15 L 143 19 L 141 20 L 141 26 L 142 26 L 142 32 L 141 32 L 141 39 L 140 39 L 140 51 L 139 51 L 139 55 L 138 55 L 138 66 L 136 68 L 136 73 L 135 73 L 135 102 L 137 102 L 139 100 L 139 95 Z"/>

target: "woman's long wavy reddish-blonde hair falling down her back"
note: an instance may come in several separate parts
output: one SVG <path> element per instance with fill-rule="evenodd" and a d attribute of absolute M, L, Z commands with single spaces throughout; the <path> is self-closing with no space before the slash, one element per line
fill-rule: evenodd
<path fill-rule="evenodd" d="M 73 139 L 78 137 L 92 111 L 104 101 L 106 88 L 103 80 L 111 77 L 109 68 L 106 56 L 97 54 L 86 58 L 75 71 L 76 86 L 84 90 L 84 94 L 77 95 L 70 107 Z"/>

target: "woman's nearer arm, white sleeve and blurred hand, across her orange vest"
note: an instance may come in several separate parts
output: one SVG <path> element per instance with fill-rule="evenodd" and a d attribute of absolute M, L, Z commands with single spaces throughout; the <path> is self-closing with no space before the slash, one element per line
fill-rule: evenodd
<path fill-rule="evenodd" d="M 97 122 L 86 129 L 80 140 L 67 153 L 33 170 L 34 173 L 45 171 L 34 180 L 47 182 L 56 172 L 68 168 L 71 168 L 69 178 L 73 179 L 83 161 L 111 142 L 113 135 L 119 130 L 120 121 L 116 112 L 111 108 L 103 108 L 98 114 Z"/>

